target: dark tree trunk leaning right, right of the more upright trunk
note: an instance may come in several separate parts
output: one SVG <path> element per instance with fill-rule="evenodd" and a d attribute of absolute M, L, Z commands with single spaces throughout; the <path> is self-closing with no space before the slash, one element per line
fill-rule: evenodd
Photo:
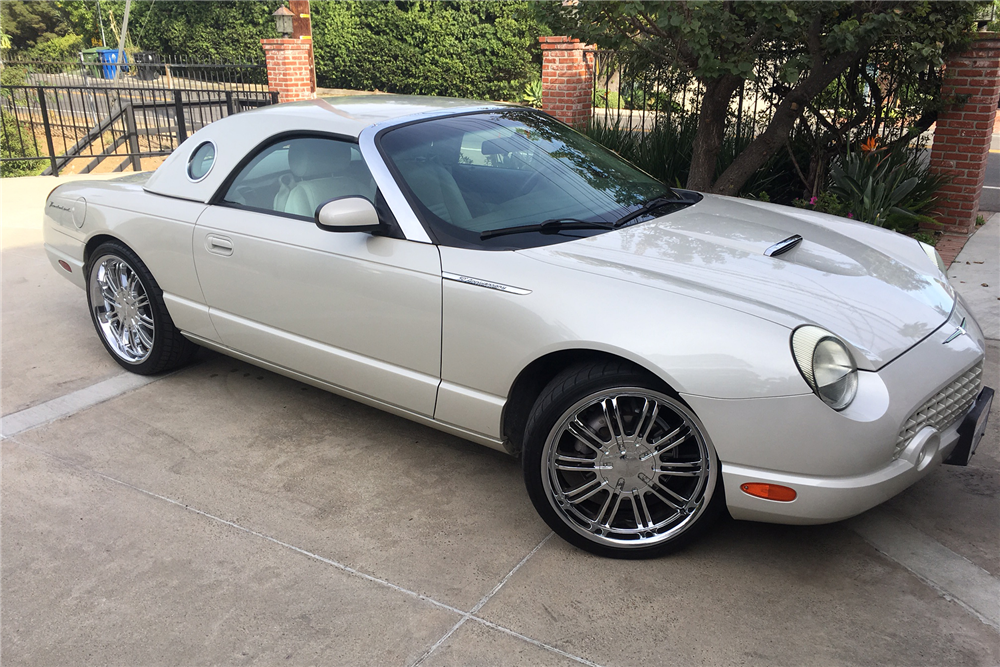
<path fill-rule="evenodd" d="M 795 86 L 785 96 L 785 99 L 781 100 L 771 117 L 771 122 L 767 124 L 767 129 L 757 135 L 757 138 L 750 142 L 746 150 L 740 153 L 719 176 L 719 180 L 712 186 L 711 192 L 720 195 L 736 195 L 747 179 L 763 167 L 788 140 L 795 120 L 805 110 L 806 104 L 823 92 L 823 89 L 840 76 L 866 50 L 867 48 L 863 48 L 850 53 L 842 53 L 813 69 L 805 81 Z"/>

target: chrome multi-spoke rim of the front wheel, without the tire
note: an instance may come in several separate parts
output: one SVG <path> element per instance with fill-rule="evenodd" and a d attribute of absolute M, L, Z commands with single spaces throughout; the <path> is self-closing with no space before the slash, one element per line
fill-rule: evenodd
<path fill-rule="evenodd" d="M 590 541 L 651 547 L 692 527 L 718 476 L 704 429 L 650 389 L 593 393 L 566 410 L 542 452 L 542 483 L 560 519 Z"/>

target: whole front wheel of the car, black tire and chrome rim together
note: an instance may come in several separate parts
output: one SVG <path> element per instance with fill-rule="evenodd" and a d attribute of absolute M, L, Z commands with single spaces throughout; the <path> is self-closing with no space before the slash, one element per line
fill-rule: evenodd
<path fill-rule="evenodd" d="M 609 406 L 612 412 L 605 411 Z M 588 428 L 596 440 L 568 430 L 573 416 L 581 423 L 592 420 Z M 605 431 L 608 423 L 622 426 Z M 675 428 L 679 435 L 668 439 Z M 657 439 L 665 444 L 651 447 Z M 599 450 L 599 443 L 605 447 Z M 565 468 L 557 470 L 560 461 Z M 675 551 L 701 535 L 725 507 L 719 459 L 704 426 L 662 382 L 624 361 L 573 366 L 542 390 L 525 427 L 522 464 L 528 495 L 545 522 L 599 556 L 654 558 Z M 671 488 L 675 483 L 687 486 Z M 687 504 L 671 495 L 678 489 L 683 493 L 677 497 L 691 489 Z M 628 504 L 616 504 L 616 498 Z"/>

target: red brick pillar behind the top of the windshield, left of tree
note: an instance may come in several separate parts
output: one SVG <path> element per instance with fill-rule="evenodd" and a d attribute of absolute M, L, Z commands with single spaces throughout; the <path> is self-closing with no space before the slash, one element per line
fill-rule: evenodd
<path fill-rule="evenodd" d="M 594 95 L 594 47 L 571 37 L 539 37 L 542 110 L 573 127 L 586 127 Z"/>

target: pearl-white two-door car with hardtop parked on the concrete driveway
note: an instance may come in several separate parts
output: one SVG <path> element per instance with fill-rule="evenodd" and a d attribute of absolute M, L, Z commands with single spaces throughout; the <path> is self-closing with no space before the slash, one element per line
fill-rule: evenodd
<path fill-rule="evenodd" d="M 594 553 L 837 521 L 966 464 L 992 389 L 933 248 L 671 189 L 545 114 L 404 96 L 217 121 L 71 183 L 45 248 L 126 369 L 196 346 L 523 459 Z"/>

